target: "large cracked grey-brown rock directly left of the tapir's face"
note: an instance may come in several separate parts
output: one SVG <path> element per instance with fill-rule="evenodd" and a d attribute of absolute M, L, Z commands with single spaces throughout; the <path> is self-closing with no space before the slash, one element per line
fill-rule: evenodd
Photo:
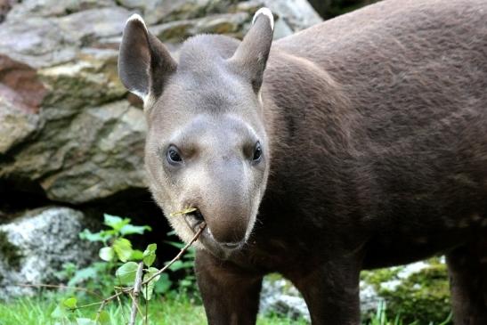
<path fill-rule="evenodd" d="M 75 112 L 63 109 L 45 109 L 37 141 L 23 147 L 12 162 L 0 161 L 0 178 L 39 183 L 47 198 L 73 204 L 145 187 L 142 110 L 126 101 Z"/>

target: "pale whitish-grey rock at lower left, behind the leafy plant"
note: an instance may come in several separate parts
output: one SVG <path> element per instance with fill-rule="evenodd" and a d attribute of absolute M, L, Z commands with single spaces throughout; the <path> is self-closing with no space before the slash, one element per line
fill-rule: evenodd
<path fill-rule="evenodd" d="M 96 248 L 78 238 L 86 223 L 79 211 L 49 207 L 0 224 L 0 299 L 33 296 L 19 284 L 56 283 L 62 264 L 93 261 Z"/>

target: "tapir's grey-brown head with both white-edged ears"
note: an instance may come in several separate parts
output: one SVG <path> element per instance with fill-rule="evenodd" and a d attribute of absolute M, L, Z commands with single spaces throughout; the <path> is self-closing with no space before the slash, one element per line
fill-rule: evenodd
<path fill-rule="evenodd" d="M 260 94 L 273 19 L 261 9 L 242 42 L 193 37 L 178 62 L 138 15 L 124 30 L 118 73 L 142 98 L 150 191 L 183 240 L 227 256 L 248 240 L 269 174 Z M 170 214 L 195 207 L 188 215 Z"/>

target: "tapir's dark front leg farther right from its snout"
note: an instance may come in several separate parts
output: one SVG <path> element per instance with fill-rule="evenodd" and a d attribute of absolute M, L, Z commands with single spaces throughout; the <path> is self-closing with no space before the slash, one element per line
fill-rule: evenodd
<path fill-rule="evenodd" d="M 360 264 L 330 261 L 290 279 L 308 305 L 312 325 L 359 325 Z"/>

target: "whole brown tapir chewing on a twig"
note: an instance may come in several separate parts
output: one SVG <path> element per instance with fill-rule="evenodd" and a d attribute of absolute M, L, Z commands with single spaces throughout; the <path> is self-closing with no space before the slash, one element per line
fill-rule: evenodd
<path fill-rule="evenodd" d="M 313 324 L 359 324 L 362 269 L 445 254 L 456 324 L 487 324 L 487 1 L 386 0 L 272 43 L 127 21 L 119 74 L 144 101 L 150 190 L 210 324 L 254 324 L 264 274 Z M 191 215 L 169 216 L 184 207 Z"/>

